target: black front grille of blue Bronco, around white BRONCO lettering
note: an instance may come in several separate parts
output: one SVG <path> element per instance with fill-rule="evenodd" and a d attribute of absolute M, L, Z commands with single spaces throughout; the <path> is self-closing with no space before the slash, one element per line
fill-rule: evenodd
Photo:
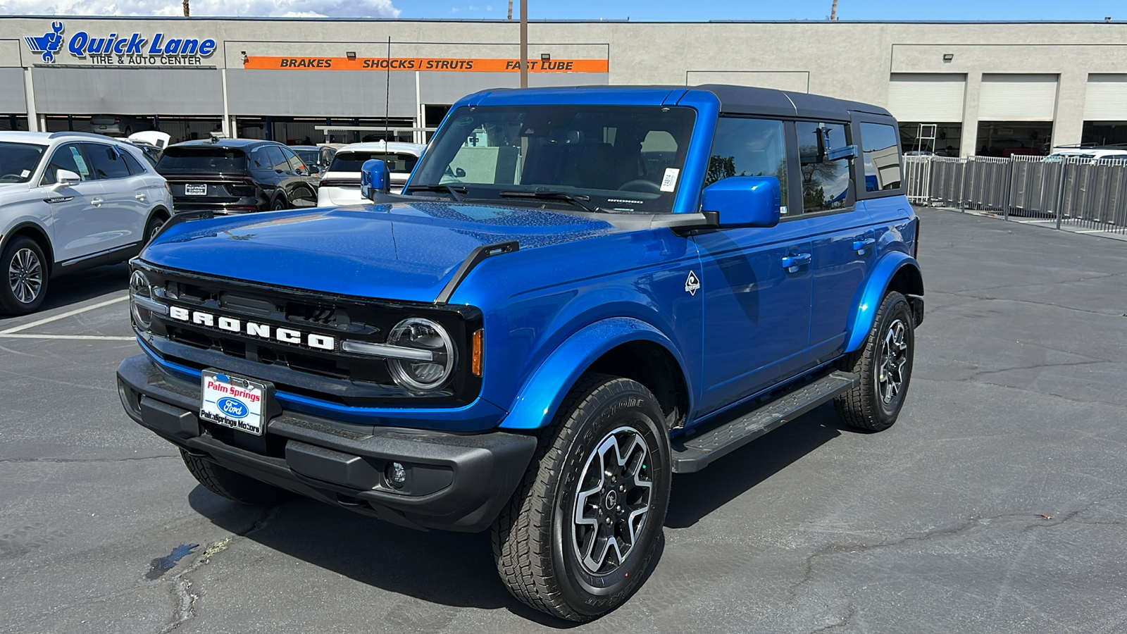
<path fill-rule="evenodd" d="M 467 307 L 365 300 L 319 296 L 307 291 L 258 287 L 246 282 L 199 278 L 188 273 L 143 268 L 156 299 L 187 310 L 206 311 L 236 323 L 238 332 L 154 316 L 142 333 L 151 347 L 170 361 L 192 368 L 216 368 L 268 380 L 277 389 L 348 405 L 438 404 L 459 406 L 473 400 L 481 381 L 459 363 L 447 385 L 435 393 L 412 394 L 391 378 L 381 358 L 343 352 L 340 341 L 384 343 L 401 319 L 426 317 L 442 324 L 455 342 L 459 359 L 469 359 L 469 338 L 480 328 L 480 312 Z M 248 334 L 243 324 L 287 328 L 331 341 L 332 350 L 304 343 L 283 343 Z M 247 326 L 249 327 L 249 325 Z M 329 340 L 331 337 L 331 340 Z"/>

